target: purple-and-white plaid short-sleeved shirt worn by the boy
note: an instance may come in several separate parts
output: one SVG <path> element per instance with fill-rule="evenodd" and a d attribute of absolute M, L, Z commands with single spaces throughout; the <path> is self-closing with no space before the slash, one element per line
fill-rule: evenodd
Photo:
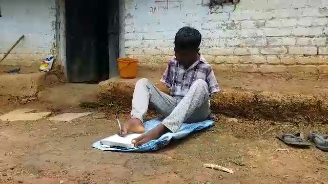
<path fill-rule="evenodd" d="M 212 66 L 201 55 L 187 70 L 179 64 L 175 57 L 171 58 L 160 81 L 170 88 L 171 96 L 181 99 L 198 79 L 207 82 L 210 94 L 220 90 Z"/>

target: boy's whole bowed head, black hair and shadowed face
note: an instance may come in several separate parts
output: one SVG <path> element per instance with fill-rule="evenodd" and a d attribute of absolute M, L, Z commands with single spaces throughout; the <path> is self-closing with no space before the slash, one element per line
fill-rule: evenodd
<path fill-rule="evenodd" d="M 191 27 L 179 29 L 174 38 L 175 57 L 180 64 L 189 67 L 198 58 L 201 34 Z"/>

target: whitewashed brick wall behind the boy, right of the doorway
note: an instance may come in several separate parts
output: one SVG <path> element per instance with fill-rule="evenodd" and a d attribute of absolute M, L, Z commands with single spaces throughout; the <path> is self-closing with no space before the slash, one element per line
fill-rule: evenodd
<path fill-rule="evenodd" d="M 220 70 L 328 73 L 327 0 L 241 0 L 212 10 L 206 3 L 126 0 L 126 55 L 165 63 L 176 31 L 191 26 L 202 34 L 201 53 Z"/>

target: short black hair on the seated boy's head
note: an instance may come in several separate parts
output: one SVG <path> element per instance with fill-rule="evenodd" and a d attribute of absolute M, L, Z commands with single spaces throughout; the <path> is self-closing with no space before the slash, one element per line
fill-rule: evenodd
<path fill-rule="evenodd" d="M 174 38 L 175 50 L 196 50 L 199 48 L 201 34 L 191 27 L 180 28 Z"/>

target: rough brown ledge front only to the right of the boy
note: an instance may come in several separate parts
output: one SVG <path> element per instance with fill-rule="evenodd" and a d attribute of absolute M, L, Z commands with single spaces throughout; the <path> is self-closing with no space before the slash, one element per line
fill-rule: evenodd
<path fill-rule="evenodd" d="M 212 100 L 212 109 L 230 117 L 291 121 L 327 122 L 327 107 L 320 97 L 301 94 L 278 94 L 224 90 Z"/>

